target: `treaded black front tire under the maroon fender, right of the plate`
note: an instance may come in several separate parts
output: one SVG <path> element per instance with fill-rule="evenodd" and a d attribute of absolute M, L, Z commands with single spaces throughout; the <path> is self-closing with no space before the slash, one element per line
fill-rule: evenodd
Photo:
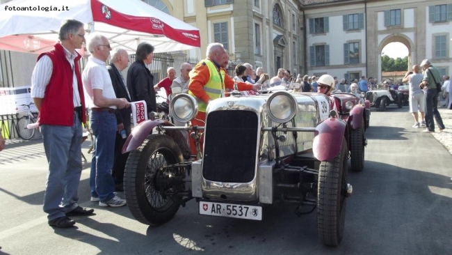
<path fill-rule="evenodd" d="M 344 235 L 347 197 L 347 142 L 331 161 L 318 169 L 317 229 L 323 245 L 337 246 Z"/>

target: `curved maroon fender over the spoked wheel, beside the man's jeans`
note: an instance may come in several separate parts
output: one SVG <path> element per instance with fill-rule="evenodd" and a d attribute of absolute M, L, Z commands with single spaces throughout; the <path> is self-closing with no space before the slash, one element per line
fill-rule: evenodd
<path fill-rule="evenodd" d="M 152 134 L 152 130 L 157 125 L 174 126 L 172 125 L 172 123 L 168 121 L 162 121 L 160 119 L 154 121 L 143 121 L 142 123 L 134 127 L 129 137 L 127 137 L 124 146 L 122 146 L 122 153 L 128 153 L 129 151 L 138 148 L 141 144 L 143 144 L 143 141 L 145 141 L 147 135 Z"/>

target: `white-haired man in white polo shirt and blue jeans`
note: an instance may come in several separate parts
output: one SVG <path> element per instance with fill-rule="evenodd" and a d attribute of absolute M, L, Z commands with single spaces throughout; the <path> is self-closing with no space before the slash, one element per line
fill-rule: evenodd
<path fill-rule="evenodd" d="M 117 130 L 115 109 L 130 107 L 125 98 L 116 98 L 105 61 L 110 56 L 110 44 L 105 36 L 92 33 L 88 39 L 92 54 L 81 75 L 83 86 L 92 100 L 90 124 L 95 135 L 92 154 L 90 189 L 91 201 L 99 206 L 124 206 L 126 201 L 115 195 L 115 183 L 111 176 Z"/>

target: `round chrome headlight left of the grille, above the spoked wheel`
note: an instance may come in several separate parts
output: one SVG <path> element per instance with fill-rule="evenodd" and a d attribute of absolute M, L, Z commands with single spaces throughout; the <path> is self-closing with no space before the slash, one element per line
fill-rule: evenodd
<path fill-rule="evenodd" d="M 187 122 L 195 118 L 197 114 L 197 102 L 188 94 L 177 94 L 170 102 L 170 115 L 176 121 Z"/>

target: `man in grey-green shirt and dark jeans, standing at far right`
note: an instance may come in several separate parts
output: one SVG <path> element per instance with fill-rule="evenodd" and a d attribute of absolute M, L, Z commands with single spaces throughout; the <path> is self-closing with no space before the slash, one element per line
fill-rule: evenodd
<path fill-rule="evenodd" d="M 441 75 L 439 75 L 439 70 L 433 67 L 428 59 L 424 59 L 421 62 L 421 67 L 423 71 L 423 79 L 420 88 L 428 88 L 426 97 L 426 130 L 423 132 L 435 132 L 435 123 L 433 122 L 433 117 L 439 127 L 439 131 L 444 130 L 444 124 L 442 123 L 441 115 L 438 111 L 438 91 L 437 83 L 441 81 Z"/>

